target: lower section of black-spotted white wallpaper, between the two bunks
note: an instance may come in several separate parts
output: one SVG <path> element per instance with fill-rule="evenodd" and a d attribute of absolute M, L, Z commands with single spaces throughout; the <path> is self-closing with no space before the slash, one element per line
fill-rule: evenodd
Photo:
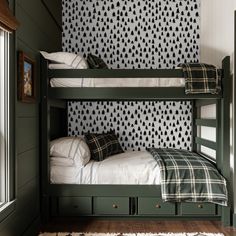
<path fill-rule="evenodd" d="M 191 103 L 98 101 L 68 103 L 68 135 L 115 130 L 125 150 L 191 149 Z"/>

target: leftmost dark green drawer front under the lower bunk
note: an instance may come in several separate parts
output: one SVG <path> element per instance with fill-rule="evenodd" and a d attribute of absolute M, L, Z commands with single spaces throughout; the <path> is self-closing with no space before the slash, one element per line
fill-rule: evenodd
<path fill-rule="evenodd" d="M 60 197 L 58 200 L 60 216 L 80 216 L 92 214 L 91 197 Z"/>

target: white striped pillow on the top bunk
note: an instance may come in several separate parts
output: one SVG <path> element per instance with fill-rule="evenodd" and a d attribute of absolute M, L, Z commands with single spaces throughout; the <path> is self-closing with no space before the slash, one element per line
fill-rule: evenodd
<path fill-rule="evenodd" d="M 69 53 L 69 52 L 47 53 L 44 51 L 40 51 L 40 53 L 45 59 L 66 64 L 74 69 L 88 69 L 89 68 L 87 61 L 79 54 L 74 54 L 74 53 Z"/>

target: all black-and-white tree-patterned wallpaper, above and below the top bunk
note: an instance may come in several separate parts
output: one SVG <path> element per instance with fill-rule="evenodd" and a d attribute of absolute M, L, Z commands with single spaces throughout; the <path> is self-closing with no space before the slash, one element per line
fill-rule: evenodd
<path fill-rule="evenodd" d="M 200 0 L 62 0 L 63 51 L 109 68 L 199 60 Z M 190 102 L 69 102 L 68 135 L 115 130 L 122 147 L 191 149 Z"/>

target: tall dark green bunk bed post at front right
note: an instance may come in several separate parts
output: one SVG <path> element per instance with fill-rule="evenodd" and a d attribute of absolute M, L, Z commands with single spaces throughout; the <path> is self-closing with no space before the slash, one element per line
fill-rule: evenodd
<path fill-rule="evenodd" d="M 221 172 L 227 180 L 228 186 L 230 184 L 230 57 L 227 56 L 222 61 L 223 69 L 223 97 L 219 101 L 221 110 Z M 231 189 L 228 187 L 229 196 Z M 230 202 L 229 202 L 230 204 Z M 222 223 L 225 226 L 230 225 L 230 205 L 222 208 Z"/>

